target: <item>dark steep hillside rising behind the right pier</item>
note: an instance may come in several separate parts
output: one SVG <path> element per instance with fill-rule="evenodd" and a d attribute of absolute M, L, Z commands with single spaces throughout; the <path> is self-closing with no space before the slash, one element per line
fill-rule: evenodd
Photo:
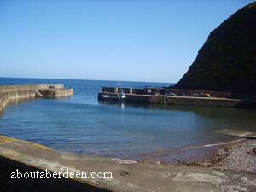
<path fill-rule="evenodd" d="M 238 10 L 210 33 L 175 88 L 256 96 L 255 2 Z"/>

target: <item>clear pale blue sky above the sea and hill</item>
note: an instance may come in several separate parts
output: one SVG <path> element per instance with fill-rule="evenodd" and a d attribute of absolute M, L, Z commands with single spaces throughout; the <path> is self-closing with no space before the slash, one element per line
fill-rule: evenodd
<path fill-rule="evenodd" d="M 0 77 L 176 83 L 247 0 L 0 0 Z"/>

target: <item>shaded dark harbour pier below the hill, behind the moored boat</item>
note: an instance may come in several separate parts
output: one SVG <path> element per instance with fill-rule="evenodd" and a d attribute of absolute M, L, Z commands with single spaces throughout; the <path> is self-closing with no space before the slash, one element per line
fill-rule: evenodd
<path fill-rule="evenodd" d="M 126 93 L 125 102 L 128 103 L 152 103 L 161 105 L 175 104 L 224 108 L 256 108 L 255 99 L 235 99 L 230 98 L 232 96 L 232 93 L 230 92 L 206 90 L 103 87 L 102 92 L 98 94 L 98 100 L 103 100 L 103 94 L 113 95 L 117 93 L 119 89 Z"/>

